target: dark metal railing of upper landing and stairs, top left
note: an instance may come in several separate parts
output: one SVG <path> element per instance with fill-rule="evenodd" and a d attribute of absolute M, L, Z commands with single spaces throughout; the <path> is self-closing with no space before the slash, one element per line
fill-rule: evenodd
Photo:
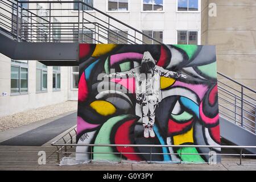
<path fill-rule="evenodd" d="M 81 1 L 2 0 L 0 20 L 18 42 L 162 43 Z"/>

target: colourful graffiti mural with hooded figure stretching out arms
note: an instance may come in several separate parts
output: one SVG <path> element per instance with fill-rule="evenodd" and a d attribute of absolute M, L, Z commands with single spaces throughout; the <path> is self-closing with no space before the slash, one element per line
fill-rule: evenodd
<path fill-rule="evenodd" d="M 123 160 L 201 163 L 210 148 L 182 146 L 220 145 L 214 46 L 80 44 L 79 69 L 77 143 L 180 147 L 80 146 L 76 160 L 93 151 L 94 160 L 122 152 Z"/>

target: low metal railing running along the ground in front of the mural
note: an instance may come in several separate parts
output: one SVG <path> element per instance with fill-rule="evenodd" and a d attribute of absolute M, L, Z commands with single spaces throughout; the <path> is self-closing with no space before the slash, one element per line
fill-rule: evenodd
<path fill-rule="evenodd" d="M 57 162 L 60 162 L 60 154 L 61 155 L 68 155 L 68 154 L 89 154 L 90 156 L 90 163 L 93 162 L 93 154 L 115 154 L 119 156 L 119 162 L 122 162 L 123 156 L 125 154 L 143 154 L 143 155 L 150 155 L 150 160 L 148 161 L 150 164 L 154 161 L 152 161 L 152 155 L 179 155 L 179 161 L 174 161 L 174 162 L 179 162 L 182 163 L 182 155 L 209 155 L 210 159 L 215 156 L 239 156 L 240 157 L 240 164 L 242 164 L 242 156 L 256 156 L 256 154 L 244 154 L 243 151 L 245 151 L 247 148 L 256 148 L 256 146 L 207 146 L 207 145 L 171 145 L 171 144 L 166 144 L 166 145 L 158 145 L 158 144 L 73 144 L 72 143 L 72 138 L 74 135 L 72 135 L 72 131 L 75 131 L 76 133 L 76 126 L 72 127 L 70 130 L 67 131 L 63 137 L 60 139 L 56 140 L 55 142 L 52 142 L 52 146 L 56 146 L 56 154 L 57 154 Z M 64 139 L 66 138 L 66 139 Z M 64 143 L 63 143 L 64 142 Z M 70 142 L 70 143 L 69 143 Z M 69 148 L 73 147 L 90 147 L 89 152 L 76 152 L 76 151 L 68 151 Z M 150 148 L 150 152 L 95 152 L 93 151 L 93 147 L 148 147 Z M 158 147 L 172 147 L 172 148 L 180 148 L 179 152 L 152 152 L 152 148 L 158 148 Z M 209 148 L 210 152 L 209 153 L 198 153 L 198 154 L 192 154 L 192 153 L 184 153 L 182 152 L 182 148 L 187 148 L 187 147 L 195 147 L 195 148 Z M 64 148 L 64 151 L 63 151 Z M 239 150 L 239 154 L 217 154 L 214 152 L 213 149 L 215 148 L 229 148 L 229 149 L 234 149 L 234 150 Z M 212 163 L 212 160 L 209 160 L 208 162 L 205 163 Z"/>

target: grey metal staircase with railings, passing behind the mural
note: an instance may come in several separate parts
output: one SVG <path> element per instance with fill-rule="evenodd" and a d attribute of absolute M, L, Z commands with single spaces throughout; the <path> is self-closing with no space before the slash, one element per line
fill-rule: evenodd
<path fill-rule="evenodd" d="M 143 44 L 146 39 L 161 43 L 83 2 L 0 1 L 0 50 L 12 59 L 78 65 L 79 43 Z M 218 98 L 221 136 L 256 146 L 255 90 L 218 73 Z"/>

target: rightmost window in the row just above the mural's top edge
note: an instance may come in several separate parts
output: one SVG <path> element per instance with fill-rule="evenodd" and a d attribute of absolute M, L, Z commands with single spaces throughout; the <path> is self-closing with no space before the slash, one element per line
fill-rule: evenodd
<path fill-rule="evenodd" d="M 198 44 L 197 31 L 177 31 L 177 44 Z"/>

